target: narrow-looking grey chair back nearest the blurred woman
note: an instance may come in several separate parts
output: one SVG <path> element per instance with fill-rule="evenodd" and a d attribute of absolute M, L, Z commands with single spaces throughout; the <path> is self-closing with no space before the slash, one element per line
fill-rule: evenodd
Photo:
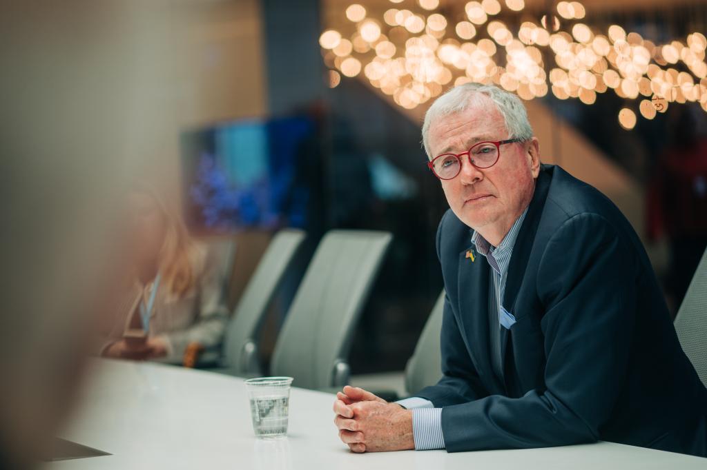
<path fill-rule="evenodd" d="M 235 375 L 259 375 L 257 333 L 297 249 L 305 239 L 301 230 L 279 231 L 253 272 L 223 340 L 223 366 Z"/>

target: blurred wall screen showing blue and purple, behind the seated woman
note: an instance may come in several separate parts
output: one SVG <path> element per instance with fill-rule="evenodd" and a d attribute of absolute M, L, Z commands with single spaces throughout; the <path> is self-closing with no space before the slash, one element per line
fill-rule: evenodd
<path fill-rule="evenodd" d="M 182 133 L 187 225 L 194 231 L 304 227 L 307 117 L 235 121 Z"/>

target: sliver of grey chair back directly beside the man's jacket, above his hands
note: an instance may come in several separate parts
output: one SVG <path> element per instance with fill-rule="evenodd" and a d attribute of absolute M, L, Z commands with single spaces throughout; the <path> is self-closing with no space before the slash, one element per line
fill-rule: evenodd
<path fill-rule="evenodd" d="M 408 394 L 419 392 L 424 387 L 435 385 L 442 378 L 442 355 L 440 333 L 445 291 L 437 298 L 427 323 L 417 340 L 415 351 L 405 367 L 405 390 Z"/>

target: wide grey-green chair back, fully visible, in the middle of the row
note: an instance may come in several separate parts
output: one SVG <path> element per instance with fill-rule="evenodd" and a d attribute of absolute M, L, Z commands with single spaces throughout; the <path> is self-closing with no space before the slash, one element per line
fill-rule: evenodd
<path fill-rule="evenodd" d="M 280 330 L 271 375 L 312 389 L 348 382 L 351 339 L 392 235 L 332 230 L 317 247 Z"/>

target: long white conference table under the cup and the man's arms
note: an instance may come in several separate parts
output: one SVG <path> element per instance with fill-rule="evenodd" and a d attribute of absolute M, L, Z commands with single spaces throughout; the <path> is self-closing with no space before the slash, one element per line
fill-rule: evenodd
<path fill-rule="evenodd" d="M 243 380 L 199 370 L 97 359 L 61 437 L 110 452 L 61 469 L 707 469 L 707 459 L 599 442 L 487 452 L 353 454 L 334 427 L 334 396 L 293 388 L 288 437 L 254 437 Z"/>

